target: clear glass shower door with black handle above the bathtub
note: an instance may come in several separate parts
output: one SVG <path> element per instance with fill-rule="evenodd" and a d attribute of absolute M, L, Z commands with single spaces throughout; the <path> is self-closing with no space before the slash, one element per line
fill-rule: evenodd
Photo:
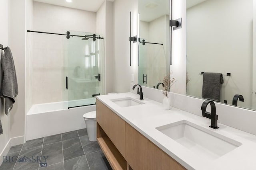
<path fill-rule="evenodd" d="M 69 39 L 63 36 L 63 98 L 67 101 L 64 102 L 66 108 L 96 104 L 95 96 L 103 93 L 103 40 L 93 39 L 93 34 L 70 31 Z"/>

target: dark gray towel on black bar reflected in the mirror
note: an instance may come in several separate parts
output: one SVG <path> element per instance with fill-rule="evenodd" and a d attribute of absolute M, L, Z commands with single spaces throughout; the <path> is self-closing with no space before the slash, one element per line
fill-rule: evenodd
<path fill-rule="evenodd" d="M 204 72 L 202 98 L 220 102 L 220 88 L 224 82 L 221 73 Z"/>

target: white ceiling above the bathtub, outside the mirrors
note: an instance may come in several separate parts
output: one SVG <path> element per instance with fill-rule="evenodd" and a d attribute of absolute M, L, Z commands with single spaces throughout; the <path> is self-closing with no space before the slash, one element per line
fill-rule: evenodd
<path fill-rule="evenodd" d="M 97 12 L 105 0 L 72 0 L 72 2 L 66 2 L 66 0 L 34 0 L 34 1 L 43 2 L 46 4 L 64 6 L 68 8 L 75 8 L 79 10 Z M 114 0 L 108 0 L 108 1 L 113 2 Z"/>

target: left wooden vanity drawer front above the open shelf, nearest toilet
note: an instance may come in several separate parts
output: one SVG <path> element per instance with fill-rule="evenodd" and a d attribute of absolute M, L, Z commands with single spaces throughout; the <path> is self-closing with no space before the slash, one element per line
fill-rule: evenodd
<path fill-rule="evenodd" d="M 118 151 L 126 158 L 126 122 L 107 106 L 97 100 L 97 122 Z"/>

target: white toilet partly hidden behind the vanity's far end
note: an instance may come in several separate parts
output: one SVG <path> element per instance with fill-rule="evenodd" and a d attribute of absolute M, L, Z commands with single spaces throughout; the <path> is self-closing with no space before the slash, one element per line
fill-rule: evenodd
<path fill-rule="evenodd" d="M 116 93 L 108 93 L 108 94 L 116 94 Z M 90 111 L 88 113 L 85 113 L 83 117 L 84 117 L 86 129 L 87 129 L 89 141 L 92 141 L 92 142 L 97 141 L 96 111 Z"/>

